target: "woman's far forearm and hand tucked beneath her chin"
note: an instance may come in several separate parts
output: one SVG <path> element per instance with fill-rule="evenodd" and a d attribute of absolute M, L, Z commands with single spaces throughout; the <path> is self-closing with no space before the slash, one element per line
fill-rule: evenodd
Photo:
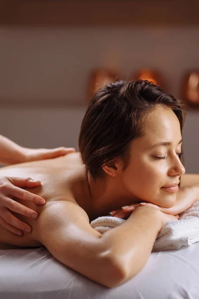
<path fill-rule="evenodd" d="M 118 218 L 126 218 L 139 206 L 151 206 L 159 209 L 163 213 L 170 214 L 170 215 L 178 215 L 184 212 L 185 210 L 187 210 L 194 202 L 198 200 L 199 200 L 199 186 L 184 187 L 179 189 L 177 193 L 176 203 L 171 208 L 164 208 L 155 205 L 153 203 L 142 202 L 138 204 L 124 206 L 120 210 L 115 210 L 110 213 L 111 216 L 115 216 Z"/>

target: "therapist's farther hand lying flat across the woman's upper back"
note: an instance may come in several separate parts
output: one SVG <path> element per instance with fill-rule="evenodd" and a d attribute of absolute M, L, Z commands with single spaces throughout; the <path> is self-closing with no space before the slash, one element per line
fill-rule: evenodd
<path fill-rule="evenodd" d="M 36 160 L 44 160 L 44 159 L 52 159 L 59 156 L 63 156 L 67 153 L 74 152 L 74 148 L 56 148 L 56 149 L 21 149 L 23 154 L 22 162 L 36 161 Z"/>

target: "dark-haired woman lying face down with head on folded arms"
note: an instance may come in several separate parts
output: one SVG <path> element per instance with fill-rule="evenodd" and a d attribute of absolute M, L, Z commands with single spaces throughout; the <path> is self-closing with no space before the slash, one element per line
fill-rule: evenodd
<path fill-rule="evenodd" d="M 132 279 L 162 224 L 199 200 L 199 176 L 184 175 L 181 162 L 183 122 L 181 102 L 148 81 L 102 87 L 83 119 L 80 153 L 0 169 L 0 176 L 40 180 L 26 189 L 46 201 L 39 206 L 16 199 L 39 217 L 13 212 L 32 231 L 17 236 L 0 227 L 2 248 L 45 246 L 58 261 L 108 288 Z M 128 216 L 125 223 L 104 234 L 91 227 L 113 210 Z"/>

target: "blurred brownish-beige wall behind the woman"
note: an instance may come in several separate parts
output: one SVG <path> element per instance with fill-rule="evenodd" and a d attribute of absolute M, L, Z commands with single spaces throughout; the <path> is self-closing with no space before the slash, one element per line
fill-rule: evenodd
<path fill-rule="evenodd" d="M 21 1 L 26 5 L 25 2 Z M 46 1 L 30 2 L 33 9 L 37 7 L 37 2 Z M 105 5 L 102 2 L 96 1 L 96 5 Z M 85 12 L 85 17 L 89 19 L 86 23 L 79 19 L 76 21 L 70 14 L 71 23 L 66 20 L 65 24 L 64 16 L 60 14 L 62 22 L 58 25 L 56 20 L 61 8 L 55 11 L 55 19 L 51 19 L 46 11 L 42 18 L 40 10 L 41 16 L 37 18 L 34 16 L 36 11 L 28 10 L 27 6 L 15 6 L 13 9 L 15 1 L 12 1 L 12 6 L 4 5 L 6 13 L 0 23 L 1 135 L 24 147 L 68 146 L 78 149 L 78 134 L 89 99 L 88 80 L 95 68 L 114 68 L 124 79 L 130 79 L 140 68 L 156 69 L 164 78 L 166 91 L 181 97 L 183 74 L 199 68 L 199 21 L 193 22 L 195 14 L 192 18 L 195 9 L 189 11 L 185 21 L 183 15 L 178 20 L 178 10 L 173 12 L 172 6 L 169 6 L 167 15 L 169 11 L 171 15 L 167 18 L 162 12 L 165 17 L 163 22 L 161 16 L 156 14 L 153 17 L 157 16 L 157 22 L 152 22 L 150 17 L 147 22 L 145 16 L 143 23 L 132 20 L 127 24 L 125 15 L 123 23 L 122 19 L 117 23 L 113 16 L 119 11 L 114 11 L 114 1 L 111 2 L 113 23 L 103 18 L 101 23 L 96 23 L 95 17 L 91 18 Z M 122 2 L 120 6 L 118 1 L 115 2 L 115 9 L 120 9 Z M 134 2 L 138 7 L 138 1 Z M 157 0 L 141 2 L 146 13 L 149 2 L 159 5 L 160 11 L 171 5 L 168 4 L 171 1 L 164 0 L 162 3 Z M 177 3 L 176 9 L 182 4 L 182 1 L 174 2 Z M 80 1 L 76 1 L 77 9 L 78 3 Z M 89 1 L 85 3 L 89 8 Z M 91 5 L 94 9 L 95 4 Z M 181 10 L 185 12 L 186 7 L 189 6 L 181 7 Z M 9 13 L 9 9 L 13 14 Z M 26 9 L 25 12 L 23 9 Z M 30 21 L 28 13 L 32 16 Z M 171 17 L 175 13 L 177 20 Z M 52 11 L 49 15 L 53 16 Z M 142 15 L 137 19 L 140 18 Z M 198 132 L 199 112 L 189 109 L 183 134 L 187 172 L 199 172 Z"/>

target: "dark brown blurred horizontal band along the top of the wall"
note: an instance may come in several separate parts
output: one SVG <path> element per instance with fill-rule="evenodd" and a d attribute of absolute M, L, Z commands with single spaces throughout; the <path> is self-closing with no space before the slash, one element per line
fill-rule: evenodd
<path fill-rule="evenodd" d="M 199 24 L 198 0 L 1 0 L 4 26 Z"/>

